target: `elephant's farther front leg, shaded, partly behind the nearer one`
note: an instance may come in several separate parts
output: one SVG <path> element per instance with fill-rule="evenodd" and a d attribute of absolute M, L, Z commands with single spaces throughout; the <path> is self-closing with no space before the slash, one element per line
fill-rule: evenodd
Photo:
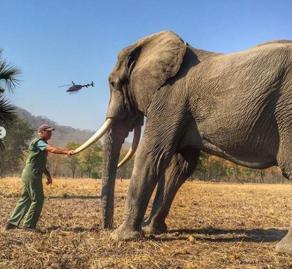
<path fill-rule="evenodd" d="M 185 147 L 174 154 L 165 171 L 165 181 L 158 182 L 150 216 L 142 223 L 145 233 L 157 234 L 166 231 L 165 218 L 179 188 L 195 171 L 199 154 L 199 150 L 191 147 Z"/>

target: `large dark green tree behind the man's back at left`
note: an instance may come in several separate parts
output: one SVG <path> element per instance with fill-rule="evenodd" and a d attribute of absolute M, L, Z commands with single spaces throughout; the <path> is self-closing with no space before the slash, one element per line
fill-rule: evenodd
<path fill-rule="evenodd" d="M 2 174 L 18 171 L 24 150 L 27 150 L 27 143 L 31 140 L 33 132 L 33 128 L 26 120 L 19 117 L 14 119 L 3 139 L 5 149 L 0 153 Z"/>

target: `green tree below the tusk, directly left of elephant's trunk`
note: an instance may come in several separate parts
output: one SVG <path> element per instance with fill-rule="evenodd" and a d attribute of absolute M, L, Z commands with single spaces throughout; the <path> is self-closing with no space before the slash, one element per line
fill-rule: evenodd
<path fill-rule="evenodd" d="M 102 144 L 98 141 L 85 151 L 82 151 L 79 156 L 79 165 L 82 171 L 91 177 L 91 173 L 95 168 L 102 164 Z"/>

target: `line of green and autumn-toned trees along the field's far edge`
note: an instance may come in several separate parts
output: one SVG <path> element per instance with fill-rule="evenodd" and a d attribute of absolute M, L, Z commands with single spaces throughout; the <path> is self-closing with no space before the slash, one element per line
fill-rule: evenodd
<path fill-rule="evenodd" d="M 7 129 L 3 139 L 5 150 L 0 152 L 2 176 L 20 176 L 27 157 L 29 141 L 34 130 L 21 118 L 15 118 Z M 79 143 L 68 141 L 64 148 L 74 150 Z M 121 149 L 119 161 L 127 154 L 128 149 Z M 95 143 L 80 154 L 73 156 L 49 154 L 47 166 L 53 176 L 73 178 L 101 178 L 103 147 Z M 130 178 L 134 166 L 134 157 L 117 170 L 117 178 Z M 197 169 L 189 177 L 190 181 L 212 181 L 229 183 L 287 183 L 278 167 L 268 169 L 251 169 L 236 165 L 225 159 L 201 152 Z"/>

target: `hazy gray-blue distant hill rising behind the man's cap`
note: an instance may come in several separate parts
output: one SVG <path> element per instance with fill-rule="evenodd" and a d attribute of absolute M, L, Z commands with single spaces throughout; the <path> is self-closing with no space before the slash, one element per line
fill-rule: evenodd
<path fill-rule="evenodd" d="M 54 145 L 56 147 L 62 148 L 66 145 L 68 141 L 74 141 L 78 143 L 84 143 L 87 141 L 92 135 L 94 135 L 95 131 L 93 130 L 80 130 L 76 128 L 72 128 L 71 126 L 63 126 L 59 125 L 57 122 L 48 119 L 45 116 L 33 116 L 25 109 L 17 107 L 16 111 L 19 117 L 28 121 L 28 123 L 35 128 L 34 135 L 37 136 L 37 128 L 41 124 L 48 124 L 51 127 L 55 128 L 54 135 L 52 139 L 49 141 L 49 144 Z M 103 142 L 103 139 L 101 139 Z M 130 148 L 131 143 L 125 142 L 122 146 L 123 148 Z"/>

